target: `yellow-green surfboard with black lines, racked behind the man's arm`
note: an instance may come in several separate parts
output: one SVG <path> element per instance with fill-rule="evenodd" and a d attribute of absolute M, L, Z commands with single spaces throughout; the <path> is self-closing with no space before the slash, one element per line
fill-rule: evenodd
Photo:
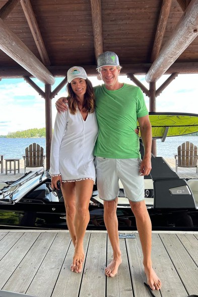
<path fill-rule="evenodd" d="M 198 114 L 195 113 L 149 112 L 149 119 L 153 138 L 165 140 L 166 137 L 170 136 L 198 132 Z"/>

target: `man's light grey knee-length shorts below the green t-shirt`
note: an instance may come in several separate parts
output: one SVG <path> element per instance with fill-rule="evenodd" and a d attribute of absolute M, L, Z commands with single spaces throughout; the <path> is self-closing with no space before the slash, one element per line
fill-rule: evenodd
<path fill-rule="evenodd" d="M 141 159 L 109 159 L 96 157 L 96 175 L 99 197 L 114 200 L 119 194 L 120 179 L 124 195 L 130 201 L 145 199 L 144 176 L 140 176 Z"/>

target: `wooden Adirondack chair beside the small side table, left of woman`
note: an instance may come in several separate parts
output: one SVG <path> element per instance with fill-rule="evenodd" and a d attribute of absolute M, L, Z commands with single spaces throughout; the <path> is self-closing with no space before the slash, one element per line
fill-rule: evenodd
<path fill-rule="evenodd" d="M 43 167 L 44 169 L 45 156 L 43 155 L 43 148 L 39 144 L 33 143 L 26 147 L 23 158 L 25 173 L 26 168 Z"/>

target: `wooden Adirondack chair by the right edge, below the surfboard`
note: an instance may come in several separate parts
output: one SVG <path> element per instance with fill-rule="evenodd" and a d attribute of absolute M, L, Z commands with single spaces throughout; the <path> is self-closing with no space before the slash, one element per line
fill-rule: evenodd
<path fill-rule="evenodd" d="M 197 168 L 197 146 L 193 143 L 186 141 L 183 142 L 177 148 L 177 155 L 175 155 L 176 162 L 176 172 L 178 167 L 185 168 L 196 168 L 196 173 L 198 174 Z"/>

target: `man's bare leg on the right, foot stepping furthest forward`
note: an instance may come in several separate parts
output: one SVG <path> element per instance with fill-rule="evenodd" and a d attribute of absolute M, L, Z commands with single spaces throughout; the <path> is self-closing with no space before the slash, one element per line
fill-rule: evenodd
<path fill-rule="evenodd" d="M 145 201 L 129 201 L 131 210 L 136 217 L 136 225 L 140 236 L 143 251 L 143 265 L 147 276 L 147 283 L 152 290 L 161 288 L 161 281 L 152 267 L 151 261 L 151 236 L 152 226 Z"/>

